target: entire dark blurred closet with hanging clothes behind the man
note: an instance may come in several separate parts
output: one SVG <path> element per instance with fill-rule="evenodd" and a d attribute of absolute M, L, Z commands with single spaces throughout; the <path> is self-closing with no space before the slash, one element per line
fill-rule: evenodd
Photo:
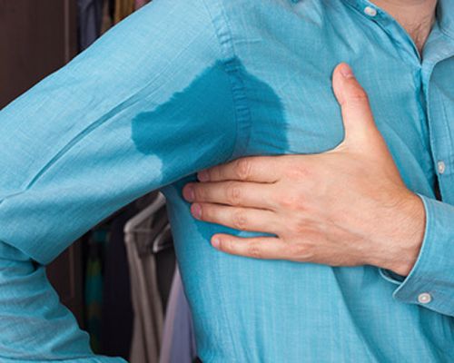
<path fill-rule="evenodd" d="M 0 110 L 149 2 L 0 0 Z M 85 233 L 47 274 L 90 334 L 95 353 L 132 363 L 191 363 L 195 357 L 191 313 L 159 193 Z M 134 285 L 137 280 L 143 285 Z"/>

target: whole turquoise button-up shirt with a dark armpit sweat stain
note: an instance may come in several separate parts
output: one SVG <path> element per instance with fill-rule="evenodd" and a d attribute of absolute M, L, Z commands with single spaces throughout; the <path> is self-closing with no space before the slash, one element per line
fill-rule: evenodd
<path fill-rule="evenodd" d="M 122 361 L 93 355 L 44 265 L 155 189 L 168 199 L 203 362 L 454 361 L 453 55 L 451 0 L 439 1 L 422 56 L 366 0 L 143 7 L 0 113 L 0 361 Z M 338 145 L 340 62 L 424 201 L 410 275 L 214 250 L 214 232 L 249 233 L 195 221 L 183 185 L 241 156 Z"/>

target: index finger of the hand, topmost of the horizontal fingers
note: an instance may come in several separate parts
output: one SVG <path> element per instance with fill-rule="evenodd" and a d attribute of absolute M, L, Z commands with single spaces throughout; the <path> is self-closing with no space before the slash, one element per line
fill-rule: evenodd
<path fill-rule="evenodd" d="M 277 182 L 279 157 L 254 156 L 214 166 L 198 173 L 201 182 Z"/>

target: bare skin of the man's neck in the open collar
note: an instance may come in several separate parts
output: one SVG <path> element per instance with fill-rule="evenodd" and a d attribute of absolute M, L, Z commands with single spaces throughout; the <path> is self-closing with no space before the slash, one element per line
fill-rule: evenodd
<path fill-rule="evenodd" d="M 410 34 L 419 53 L 435 21 L 437 0 L 370 0 L 390 14 Z"/>

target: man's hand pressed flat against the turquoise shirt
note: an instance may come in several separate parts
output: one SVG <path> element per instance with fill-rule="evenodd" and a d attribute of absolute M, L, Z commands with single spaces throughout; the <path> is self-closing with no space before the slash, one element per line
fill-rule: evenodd
<path fill-rule="evenodd" d="M 424 235 L 422 201 L 400 178 L 367 94 L 347 64 L 332 86 L 345 138 L 329 152 L 249 157 L 199 173 L 185 186 L 192 215 L 276 237 L 212 236 L 224 252 L 259 259 L 370 264 L 407 275 Z"/>

